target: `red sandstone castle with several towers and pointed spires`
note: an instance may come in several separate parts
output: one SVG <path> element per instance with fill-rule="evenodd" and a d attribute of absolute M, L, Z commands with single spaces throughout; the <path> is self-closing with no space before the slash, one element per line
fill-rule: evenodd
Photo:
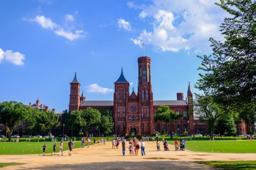
<path fill-rule="evenodd" d="M 193 93 L 188 84 L 186 99 L 183 93 L 177 93 L 177 100 L 153 100 L 151 74 L 150 74 L 150 58 L 138 58 L 138 93 L 134 90 L 129 93 L 129 82 L 124 78 L 123 69 L 120 77 L 115 84 L 113 101 L 86 101 L 84 93 L 80 97 L 80 83 L 76 79 L 70 82 L 69 95 L 69 111 L 84 110 L 87 107 L 94 109 L 110 109 L 113 112 L 113 120 L 115 124 L 114 133 L 117 135 L 131 134 L 132 127 L 135 134 L 152 135 L 154 131 L 161 132 L 163 129 L 170 132 L 166 123 L 154 123 L 153 117 L 155 111 L 161 105 L 167 105 L 176 113 L 183 116 L 173 123 L 174 133 L 188 134 L 207 133 L 207 124 L 199 122 L 194 118 L 193 113 L 188 115 L 188 110 L 192 107 Z M 249 131 L 243 121 L 237 121 L 238 133 L 246 133 Z M 208 134 L 208 133 L 207 133 Z"/>

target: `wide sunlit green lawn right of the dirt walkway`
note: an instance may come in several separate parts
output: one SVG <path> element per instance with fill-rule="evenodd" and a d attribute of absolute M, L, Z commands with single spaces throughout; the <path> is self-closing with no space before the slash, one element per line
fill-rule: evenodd
<path fill-rule="evenodd" d="M 174 145 L 174 142 L 168 142 Z M 194 152 L 256 153 L 256 140 L 186 141 L 186 149 Z"/>

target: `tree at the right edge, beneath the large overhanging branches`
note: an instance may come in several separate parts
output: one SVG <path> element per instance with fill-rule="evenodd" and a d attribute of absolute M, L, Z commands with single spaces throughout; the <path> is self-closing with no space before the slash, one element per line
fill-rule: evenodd
<path fill-rule="evenodd" d="M 241 117 L 246 124 L 250 126 L 250 134 L 252 134 L 252 124 L 256 122 L 256 111 L 254 105 L 247 105 L 241 108 L 239 117 Z"/>

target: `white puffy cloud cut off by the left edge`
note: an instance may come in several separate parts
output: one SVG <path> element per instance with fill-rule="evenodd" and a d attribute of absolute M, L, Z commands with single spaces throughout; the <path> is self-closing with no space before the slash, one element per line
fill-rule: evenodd
<path fill-rule="evenodd" d="M 14 65 L 22 66 L 24 65 L 23 60 L 25 60 L 25 55 L 19 52 L 13 52 L 12 50 L 6 50 L 5 52 L 0 48 L 0 62 L 6 60 Z"/>

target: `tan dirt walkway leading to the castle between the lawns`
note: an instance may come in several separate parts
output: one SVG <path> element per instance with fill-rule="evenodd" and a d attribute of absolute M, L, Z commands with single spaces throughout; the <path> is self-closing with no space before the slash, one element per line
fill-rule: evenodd
<path fill-rule="evenodd" d="M 111 142 L 106 145 L 91 145 L 89 148 L 76 148 L 71 156 L 0 155 L 0 162 L 25 163 L 19 166 L 7 166 L 1 169 L 211 169 L 194 161 L 206 160 L 256 160 L 255 153 L 202 153 L 190 151 L 156 151 L 156 142 L 145 142 L 146 156 L 130 156 L 126 141 L 125 156 L 122 145 L 112 149 Z M 163 145 L 161 145 L 163 149 Z"/>

